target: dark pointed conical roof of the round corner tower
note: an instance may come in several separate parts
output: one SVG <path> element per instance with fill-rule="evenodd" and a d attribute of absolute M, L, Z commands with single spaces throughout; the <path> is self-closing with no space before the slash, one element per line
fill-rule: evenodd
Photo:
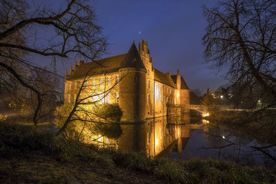
<path fill-rule="evenodd" d="M 135 43 L 132 43 L 130 50 L 126 54 L 126 57 L 123 62 L 121 62 L 120 68 L 143 68 L 146 70 L 146 67 L 141 60 L 139 52 L 136 48 Z"/>

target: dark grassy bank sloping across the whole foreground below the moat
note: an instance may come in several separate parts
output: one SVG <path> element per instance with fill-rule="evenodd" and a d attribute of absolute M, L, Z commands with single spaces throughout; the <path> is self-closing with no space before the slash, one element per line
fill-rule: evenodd
<path fill-rule="evenodd" d="M 214 159 L 170 161 L 99 150 L 0 123 L 1 183 L 273 183 L 276 171 Z"/>

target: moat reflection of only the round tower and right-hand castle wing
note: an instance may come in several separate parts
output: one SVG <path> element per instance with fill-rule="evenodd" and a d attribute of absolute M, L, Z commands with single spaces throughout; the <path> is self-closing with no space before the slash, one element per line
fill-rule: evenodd
<path fill-rule="evenodd" d="M 140 125 L 123 125 L 123 134 L 119 138 L 119 149 L 127 152 L 144 152 L 156 156 L 179 138 L 176 117 L 162 116 L 148 119 Z M 169 123 L 168 123 L 169 122 Z"/>

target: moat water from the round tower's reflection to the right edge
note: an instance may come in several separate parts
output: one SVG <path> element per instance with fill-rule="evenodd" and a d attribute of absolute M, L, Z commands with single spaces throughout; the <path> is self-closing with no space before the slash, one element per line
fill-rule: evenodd
<path fill-rule="evenodd" d="M 190 114 L 148 119 L 139 125 L 122 125 L 123 133 L 116 144 L 126 152 L 168 159 L 214 158 L 246 165 L 276 165 L 266 154 L 250 147 L 264 143 L 211 124 Z M 276 156 L 272 149 L 266 152 Z"/>

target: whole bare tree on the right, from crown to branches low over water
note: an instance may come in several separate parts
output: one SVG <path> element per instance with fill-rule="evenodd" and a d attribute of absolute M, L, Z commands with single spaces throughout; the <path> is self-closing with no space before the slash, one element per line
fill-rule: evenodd
<path fill-rule="evenodd" d="M 254 109 L 241 113 L 239 125 L 259 122 L 254 134 L 269 135 L 270 145 L 264 147 L 275 147 L 276 115 L 271 108 L 276 105 L 276 1 L 226 0 L 203 9 L 208 23 L 203 37 L 206 62 L 226 70 L 234 98 L 239 103 L 246 99 Z M 256 111 L 257 103 L 262 107 Z"/>

